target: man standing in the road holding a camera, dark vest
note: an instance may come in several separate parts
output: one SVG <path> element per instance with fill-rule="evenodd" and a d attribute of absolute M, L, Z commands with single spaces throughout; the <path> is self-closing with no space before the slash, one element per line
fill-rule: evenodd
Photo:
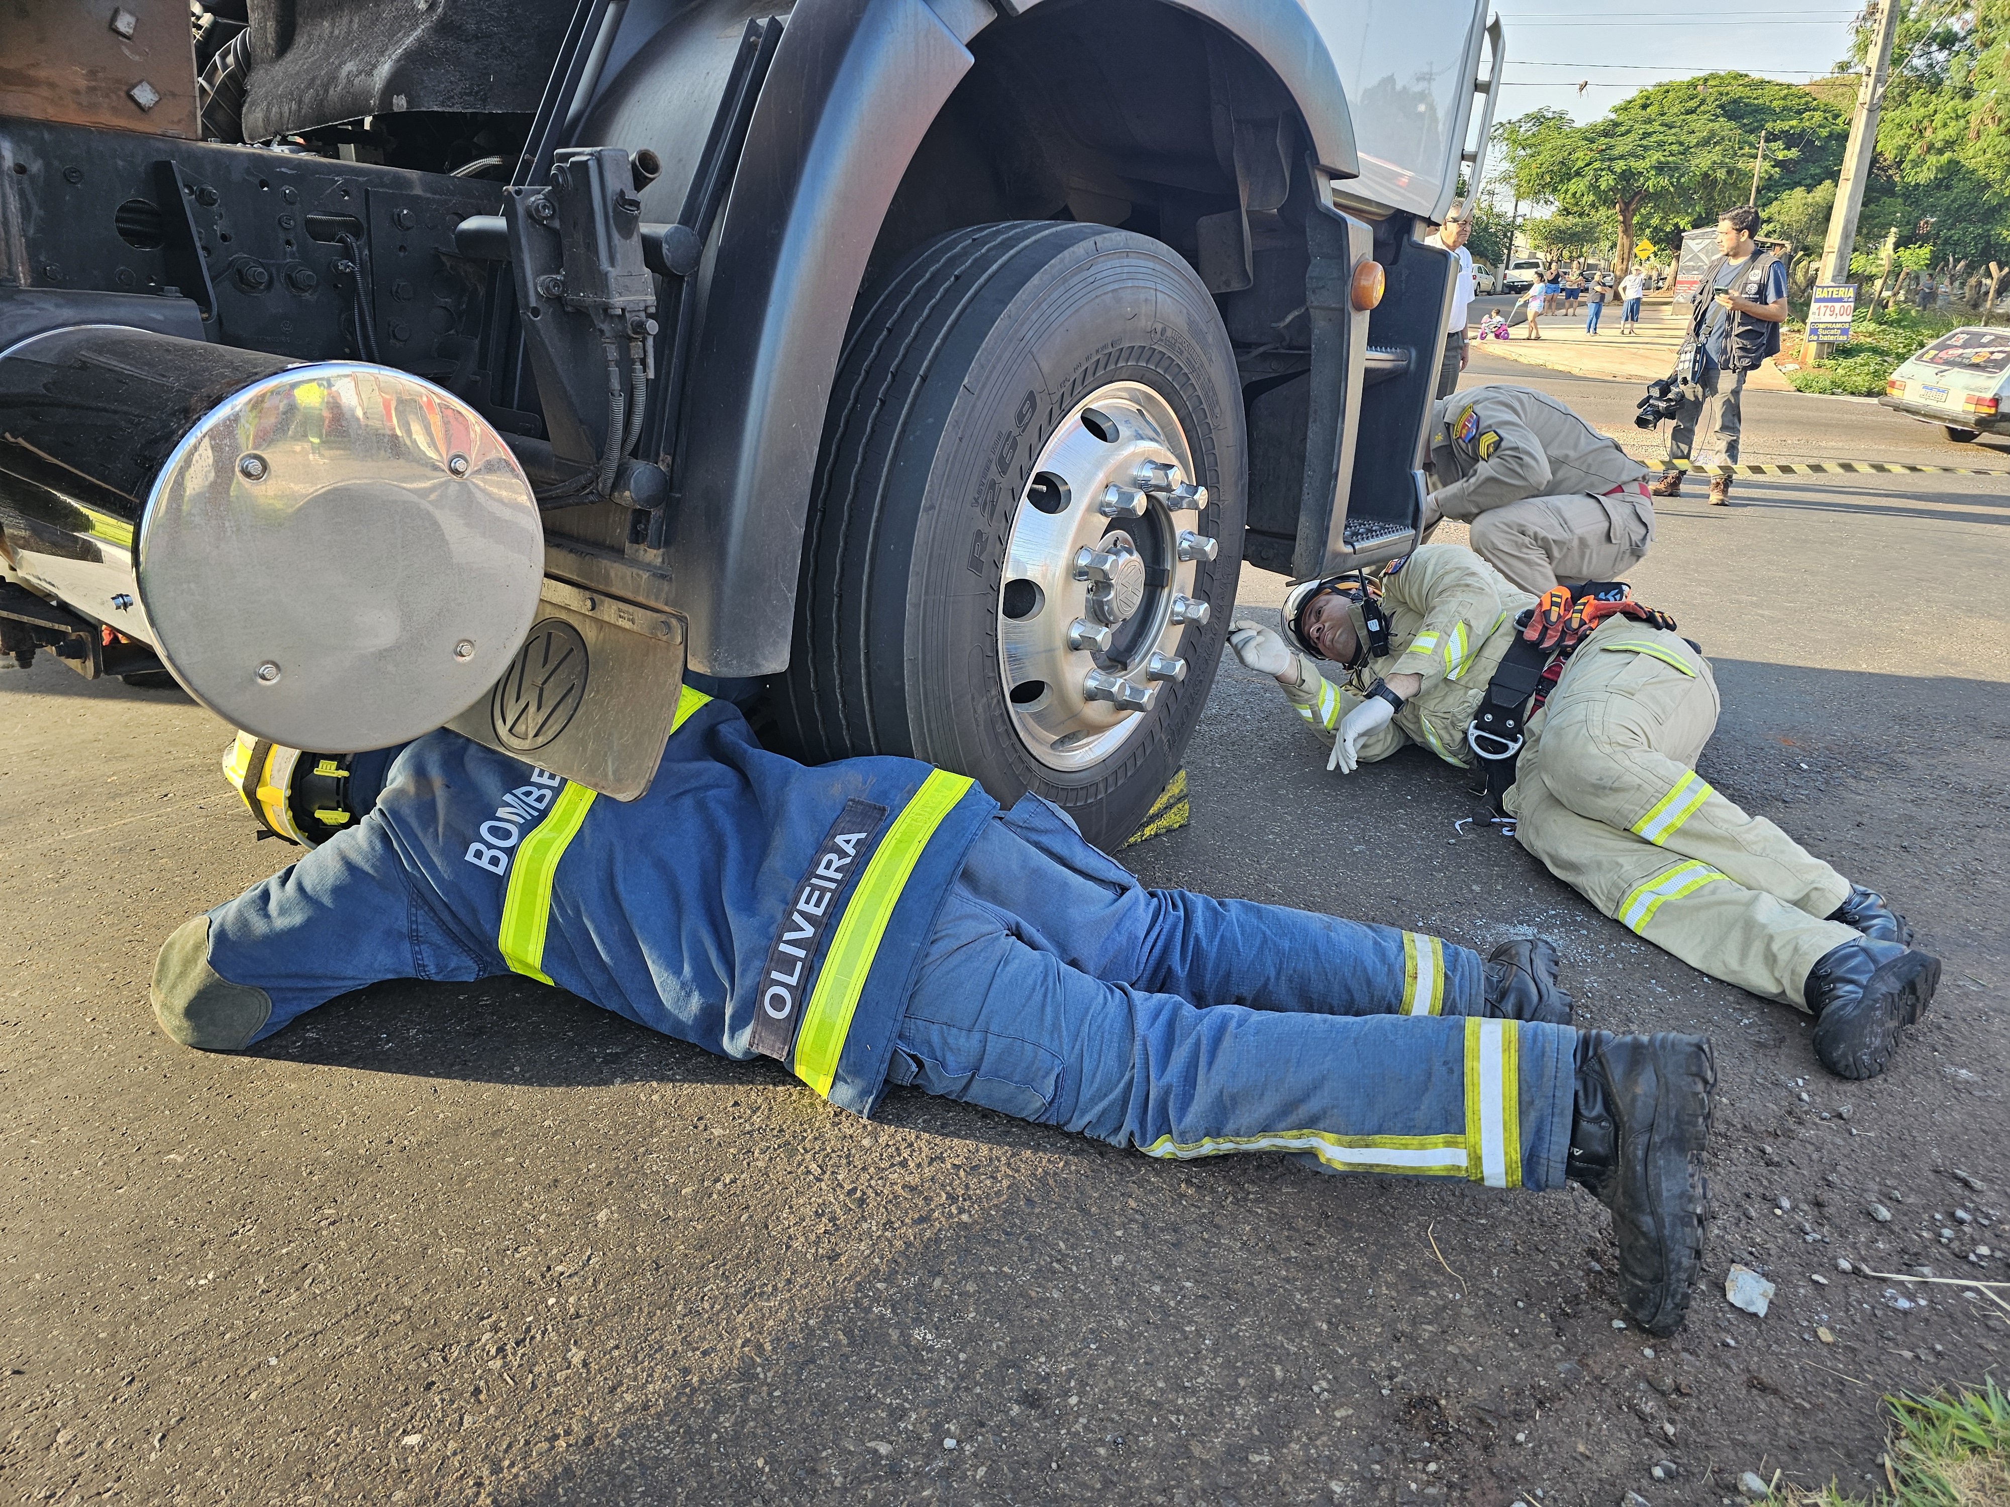
<path fill-rule="evenodd" d="M 1751 205 L 1729 209 L 1717 221 L 1719 255 L 1702 273 L 1708 295 L 1698 289 L 1688 313 L 1688 340 L 1676 358 L 1674 382 L 1682 402 L 1668 436 L 1670 460 L 1700 466 L 1735 466 L 1739 460 L 1745 374 L 1779 354 L 1779 326 L 1787 317 L 1787 267 L 1753 241 L 1757 233 L 1759 211 Z M 1650 428 L 1648 404 L 1642 404 L 1636 422 Z M 1654 482 L 1654 496 L 1680 494 L 1682 472 L 1664 470 Z M 1711 502 L 1729 500 L 1731 478 L 1713 476 Z"/>

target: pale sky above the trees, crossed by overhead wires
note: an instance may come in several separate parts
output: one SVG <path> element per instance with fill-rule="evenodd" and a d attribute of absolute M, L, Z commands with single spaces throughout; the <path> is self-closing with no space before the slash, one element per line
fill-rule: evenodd
<path fill-rule="evenodd" d="M 1721 68 L 1795 84 L 1823 78 L 1849 56 L 1849 22 L 1861 8 L 1847 0 L 1694 4 L 1495 0 L 1493 14 L 1507 32 L 1507 70 L 1493 119 L 1550 104 L 1574 121 L 1596 121 L 1636 88 Z"/>

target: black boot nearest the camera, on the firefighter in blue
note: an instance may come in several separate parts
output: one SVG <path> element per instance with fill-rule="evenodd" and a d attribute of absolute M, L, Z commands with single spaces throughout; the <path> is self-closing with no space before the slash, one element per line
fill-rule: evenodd
<path fill-rule="evenodd" d="M 1717 1083 L 1711 1043 L 1584 1031 L 1576 1059 L 1566 1175 L 1612 1210 L 1626 1312 L 1650 1334 L 1672 1334 L 1688 1316 L 1688 1290 L 1702 1268 L 1711 1196 L 1702 1143 Z"/>

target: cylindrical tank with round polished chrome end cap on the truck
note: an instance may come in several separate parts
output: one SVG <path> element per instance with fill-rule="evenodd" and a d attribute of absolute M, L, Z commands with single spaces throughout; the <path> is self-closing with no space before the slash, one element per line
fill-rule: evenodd
<path fill-rule="evenodd" d="M 458 715 L 521 647 L 543 557 L 509 446 L 420 378 L 125 326 L 0 352 L 0 573 L 275 743 Z"/>

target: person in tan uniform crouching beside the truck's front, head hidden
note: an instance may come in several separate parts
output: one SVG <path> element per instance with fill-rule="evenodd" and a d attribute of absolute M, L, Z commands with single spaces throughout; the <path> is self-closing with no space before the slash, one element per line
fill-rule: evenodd
<path fill-rule="evenodd" d="M 1646 466 L 1532 388 L 1465 388 L 1437 404 L 1431 506 L 1522 591 L 1610 581 L 1654 543 Z M 1427 516 L 1427 524 L 1431 524 Z"/>

